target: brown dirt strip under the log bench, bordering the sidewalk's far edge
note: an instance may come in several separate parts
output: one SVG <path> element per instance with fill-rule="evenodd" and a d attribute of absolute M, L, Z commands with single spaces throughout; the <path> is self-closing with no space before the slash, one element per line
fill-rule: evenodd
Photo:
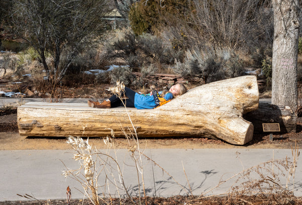
<path fill-rule="evenodd" d="M 98 149 L 106 149 L 102 138 L 90 138 L 90 143 Z M 141 138 L 140 147 L 145 149 L 291 149 L 295 143 L 302 147 L 302 119 L 298 118 L 296 133 L 273 134 L 270 141 L 269 133 L 254 134 L 252 142 L 244 146 L 231 145 L 220 140 L 207 138 Z M 125 138 L 117 138 L 118 149 L 127 149 Z M 0 150 L 65 150 L 70 149 L 66 138 L 45 138 L 20 136 L 17 124 L 17 109 L 0 112 Z"/>

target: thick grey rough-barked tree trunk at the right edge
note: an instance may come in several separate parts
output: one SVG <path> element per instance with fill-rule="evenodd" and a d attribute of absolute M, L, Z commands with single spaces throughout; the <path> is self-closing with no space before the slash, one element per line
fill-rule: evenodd
<path fill-rule="evenodd" d="M 299 1 L 273 0 L 272 104 L 297 110 Z"/>

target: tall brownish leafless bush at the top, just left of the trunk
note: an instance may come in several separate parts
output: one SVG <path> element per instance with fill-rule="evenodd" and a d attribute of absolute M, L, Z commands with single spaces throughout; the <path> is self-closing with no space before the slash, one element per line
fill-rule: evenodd
<path fill-rule="evenodd" d="M 205 41 L 218 47 L 238 48 L 272 42 L 270 0 L 193 1 L 194 25 L 200 27 Z"/>

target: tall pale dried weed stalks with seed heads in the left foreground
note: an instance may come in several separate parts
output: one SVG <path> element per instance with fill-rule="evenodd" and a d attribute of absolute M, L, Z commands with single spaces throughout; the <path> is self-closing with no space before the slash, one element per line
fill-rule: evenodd
<path fill-rule="evenodd" d="M 124 84 L 117 82 L 117 86 L 113 88 L 109 88 L 108 90 L 111 91 L 113 94 L 117 95 L 120 99 L 123 98 L 124 92 Z M 142 157 L 145 157 L 147 160 L 151 160 L 146 155 L 143 154 L 143 151 L 140 150 L 138 136 L 136 133 L 136 127 L 133 125 L 130 115 L 127 111 L 127 107 L 124 104 L 126 112 L 129 117 L 129 121 L 131 122 L 131 127 L 127 127 L 126 129 L 123 126 L 120 126 L 121 130 L 124 132 L 124 135 L 128 142 L 128 152 L 130 157 L 133 161 L 134 167 L 136 168 L 137 173 L 137 182 L 138 182 L 138 199 L 139 204 L 142 203 L 141 200 L 141 187 L 140 187 L 140 179 L 142 184 L 143 195 L 145 198 L 145 204 L 147 204 L 146 200 L 146 192 L 145 192 L 145 184 L 144 184 L 144 175 L 143 175 L 143 161 Z M 109 128 L 110 129 L 110 128 Z M 98 151 L 97 149 L 92 149 L 91 145 L 89 145 L 88 139 L 84 141 L 82 138 L 77 137 L 74 138 L 73 136 L 69 136 L 67 143 L 72 147 L 75 151 L 73 159 L 80 162 L 80 168 L 71 170 L 68 169 L 66 166 L 66 171 L 64 171 L 63 175 L 65 177 L 70 177 L 74 180 L 79 181 L 84 190 L 85 195 L 92 201 L 93 204 L 100 204 L 99 202 L 99 195 L 98 190 L 102 189 L 103 193 L 108 192 L 111 198 L 110 184 L 113 184 L 115 187 L 115 191 L 118 193 L 120 201 L 121 200 L 121 193 L 120 191 L 125 191 L 126 195 L 133 201 L 132 196 L 128 192 L 128 188 L 124 183 L 124 176 L 123 176 L 123 168 L 118 163 L 116 147 L 115 147 L 115 136 L 114 131 L 111 130 L 111 136 L 107 136 L 104 139 L 104 143 L 107 145 L 106 152 Z M 111 152 L 113 150 L 113 153 Z M 160 165 L 158 165 L 155 161 L 152 162 L 160 167 L 163 172 L 166 172 L 170 177 L 172 177 L 165 169 L 163 169 Z M 104 177 L 104 184 L 102 186 L 98 183 L 98 178 L 102 174 Z M 173 178 L 173 177 L 172 177 Z M 174 178 L 173 178 L 174 179 Z M 174 179 L 175 180 L 175 179 Z M 176 181 L 176 180 L 175 180 Z M 176 181 L 177 182 L 177 181 Z M 177 182 L 183 189 L 186 187 L 182 186 Z M 103 194 L 105 197 L 105 194 Z M 102 198 L 101 198 L 102 199 Z M 102 199 L 103 200 L 103 199 Z M 104 203 L 107 203 L 103 200 Z"/>

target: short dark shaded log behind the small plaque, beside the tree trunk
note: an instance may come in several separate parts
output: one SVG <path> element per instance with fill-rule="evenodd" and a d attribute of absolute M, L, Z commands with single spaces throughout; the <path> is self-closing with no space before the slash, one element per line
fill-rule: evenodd
<path fill-rule="evenodd" d="M 279 123 L 279 133 L 296 131 L 296 114 L 288 106 L 259 103 L 259 108 L 244 115 L 254 125 L 254 133 L 263 133 L 263 123 Z"/>

